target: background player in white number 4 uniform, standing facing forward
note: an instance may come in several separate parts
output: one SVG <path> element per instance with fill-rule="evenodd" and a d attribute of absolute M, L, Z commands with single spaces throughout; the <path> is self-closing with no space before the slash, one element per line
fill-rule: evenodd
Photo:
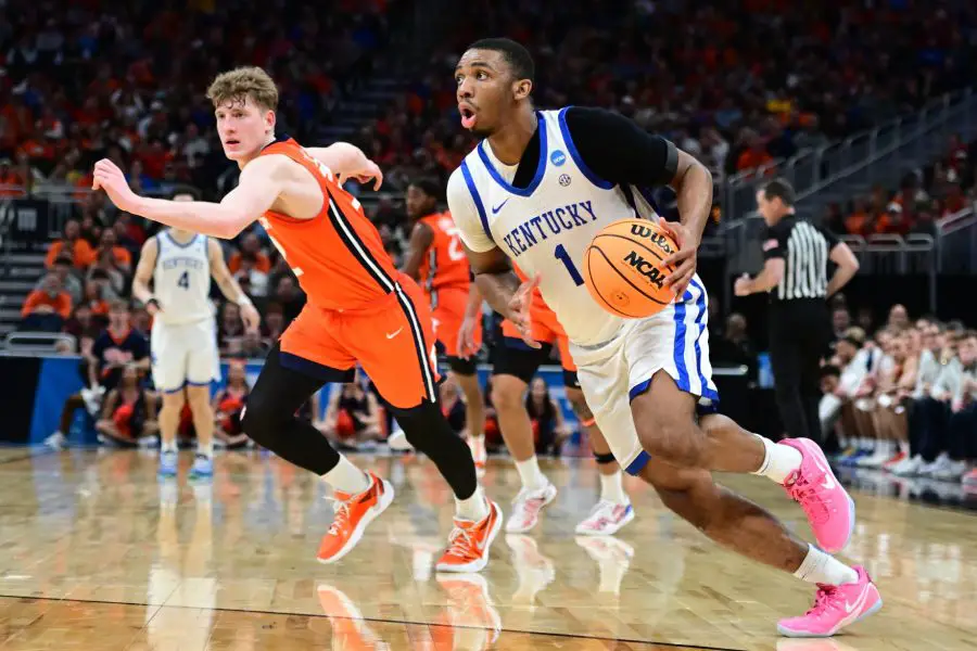
<path fill-rule="evenodd" d="M 193 201 L 177 192 L 174 201 Z M 160 410 L 160 474 L 177 472 L 177 427 L 185 400 L 193 412 L 196 458 L 191 473 L 213 473 L 214 410 L 211 382 L 220 378 L 217 327 L 211 304 L 211 276 L 228 301 L 241 307 L 241 319 L 256 330 L 261 316 L 231 277 L 216 240 L 168 228 L 147 240 L 132 279 L 132 294 L 153 317 L 150 337 L 153 383 L 163 395 Z M 150 280 L 153 290 L 150 291 Z"/>

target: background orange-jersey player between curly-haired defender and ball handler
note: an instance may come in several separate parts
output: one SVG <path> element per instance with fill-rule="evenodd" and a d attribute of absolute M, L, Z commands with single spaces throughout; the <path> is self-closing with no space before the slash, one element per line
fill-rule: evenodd
<path fill-rule="evenodd" d="M 448 368 L 465 393 L 468 445 L 475 468 L 485 468 L 485 406 L 472 355 L 482 347 L 482 295 L 471 282 L 468 257 L 458 239 L 458 228 L 448 213 L 437 213 L 441 186 L 418 179 L 407 187 L 410 231 L 407 256 L 401 271 L 417 280 L 434 315 L 434 336 L 447 357 Z M 466 320 L 466 316 L 471 317 Z M 461 326 L 467 347 L 460 347 Z"/>

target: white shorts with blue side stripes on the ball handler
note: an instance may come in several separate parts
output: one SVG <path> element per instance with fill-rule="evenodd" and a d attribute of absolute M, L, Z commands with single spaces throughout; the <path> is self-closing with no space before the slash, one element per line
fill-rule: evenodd
<path fill-rule="evenodd" d="M 631 474 L 650 459 L 638 442 L 631 400 L 648 390 L 655 373 L 665 371 L 705 409 L 719 404 L 709 362 L 709 302 L 698 277 L 685 298 L 654 317 L 627 321 L 604 344 L 570 344 L 587 406 L 614 458 Z"/>

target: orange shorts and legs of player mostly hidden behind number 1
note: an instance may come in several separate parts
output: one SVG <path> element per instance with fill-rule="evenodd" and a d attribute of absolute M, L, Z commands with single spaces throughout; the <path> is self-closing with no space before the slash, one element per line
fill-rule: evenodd
<path fill-rule="evenodd" d="M 524 280 L 524 276 L 520 273 Z M 563 367 L 563 384 L 567 398 L 580 420 L 581 427 L 591 439 L 591 449 L 600 472 L 600 500 L 589 515 L 576 525 L 576 533 L 591 536 L 611 536 L 634 520 L 634 509 L 624 493 L 621 467 L 611 454 L 600 429 L 594 421 L 580 382 L 576 366 L 570 357 L 569 341 L 556 315 L 547 307 L 536 289 L 530 308 L 532 336 L 541 344 L 530 347 L 523 342 L 516 326 L 503 321 L 503 340 L 493 350 L 492 404 L 498 416 L 506 447 L 516 461 L 516 470 L 522 480 L 522 489 L 512 501 L 512 512 L 506 522 L 506 531 L 512 534 L 528 532 L 540 520 L 540 511 L 556 497 L 556 486 L 540 470 L 533 443 L 532 423 L 525 410 L 525 391 L 536 370 L 549 361 L 553 346 L 560 353 Z"/>

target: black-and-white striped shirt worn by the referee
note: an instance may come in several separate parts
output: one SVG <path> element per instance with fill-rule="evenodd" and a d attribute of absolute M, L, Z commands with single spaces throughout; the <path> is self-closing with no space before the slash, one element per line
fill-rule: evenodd
<path fill-rule="evenodd" d="M 797 215 L 787 215 L 766 228 L 764 259 L 783 258 L 784 277 L 771 290 L 771 301 L 824 298 L 827 293 L 827 265 L 838 238 Z"/>

